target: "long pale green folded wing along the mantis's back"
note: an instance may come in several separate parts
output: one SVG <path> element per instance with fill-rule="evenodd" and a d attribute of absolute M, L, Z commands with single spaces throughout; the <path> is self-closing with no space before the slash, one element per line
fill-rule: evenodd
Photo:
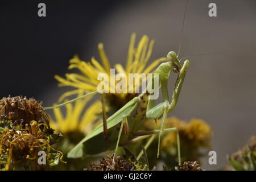
<path fill-rule="evenodd" d="M 113 126 L 117 125 L 122 121 L 123 115 L 129 115 L 137 106 L 138 104 L 138 97 L 134 97 L 133 100 L 127 102 L 121 109 L 119 109 L 116 113 L 110 116 L 107 119 L 108 129 L 112 128 Z M 71 151 L 68 152 L 68 158 L 81 158 L 83 156 L 83 147 L 84 143 L 89 140 L 90 138 L 95 137 L 96 135 L 103 132 L 103 123 L 96 127 L 92 131 L 92 133 L 88 134 L 84 139 L 82 139 Z"/>

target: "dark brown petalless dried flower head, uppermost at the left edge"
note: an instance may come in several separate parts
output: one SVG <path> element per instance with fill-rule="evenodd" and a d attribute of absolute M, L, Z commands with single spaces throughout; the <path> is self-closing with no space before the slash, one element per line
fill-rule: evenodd
<path fill-rule="evenodd" d="M 43 111 L 42 102 L 20 96 L 3 97 L 0 100 L 0 120 L 12 121 L 16 125 L 22 123 L 23 127 L 35 120 L 49 126 L 49 118 Z"/>

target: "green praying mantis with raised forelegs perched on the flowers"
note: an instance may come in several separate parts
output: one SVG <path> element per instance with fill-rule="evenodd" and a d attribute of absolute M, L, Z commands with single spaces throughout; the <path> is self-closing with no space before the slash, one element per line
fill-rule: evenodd
<path fill-rule="evenodd" d="M 187 2 L 188 3 L 188 2 Z M 187 10 L 187 5 L 186 5 Z M 186 12 L 186 11 L 185 11 Z M 184 14 L 185 19 L 185 14 Z M 183 20 L 184 26 L 184 20 Z M 183 28 L 182 28 L 183 30 Z M 181 38 L 182 38 L 181 31 Z M 180 41 L 181 45 L 181 41 Z M 179 45 L 179 52 L 180 52 Z M 101 125 L 96 127 L 90 134 L 86 135 L 84 139 L 82 139 L 71 151 L 68 153 L 68 158 L 81 158 L 84 154 L 95 154 L 95 152 L 100 152 L 104 150 L 113 150 L 114 157 L 117 154 L 118 146 L 129 146 L 131 144 L 135 144 L 143 139 L 149 138 L 141 152 L 137 155 L 137 160 L 141 158 L 143 155 L 143 151 L 150 146 L 156 135 L 158 135 L 158 152 L 157 157 L 160 152 L 160 139 L 163 133 L 175 132 L 177 139 L 177 158 L 179 165 L 181 165 L 181 156 L 180 156 L 180 138 L 179 131 L 173 128 L 165 128 L 165 122 L 167 119 L 167 114 L 175 109 L 177 104 L 177 100 L 180 95 L 181 87 L 183 85 L 185 75 L 187 69 L 189 67 L 189 60 L 185 60 L 183 64 L 181 60 L 178 58 L 179 56 L 174 51 L 171 51 L 167 54 L 167 62 L 159 65 L 158 68 L 152 73 L 151 80 L 148 84 L 152 84 L 156 78 L 159 79 L 159 89 L 162 91 L 163 102 L 158 105 L 155 105 L 156 100 L 150 99 L 150 94 L 152 94 L 150 87 L 147 85 L 144 92 L 139 94 L 139 96 L 134 97 L 132 100 L 127 102 L 121 109 L 116 111 L 109 118 L 106 118 L 106 109 L 105 109 L 105 98 L 104 92 L 95 91 L 84 96 L 77 97 L 73 100 L 65 102 L 63 104 L 59 104 L 52 107 L 44 107 L 46 109 L 54 109 L 56 107 L 64 106 L 68 103 L 75 102 L 76 100 L 92 96 L 95 94 L 101 95 L 102 102 L 102 120 Z M 170 77 L 170 73 L 178 73 L 176 83 L 174 86 L 174 92 L 172 93 L 171 102 L 168 92 L 168 79 Z M 161 124 L 160 128 L 157 130 L 148 130 L 141 131 L 139 130 L 142 123 L 147 119 L 160 119 Z M 116 128 L 119 127 L 119 132 L 116 132 Z M 110 135 L 109 135 L 110 134 Z M 96 143 L 96 138 L 103 139 L 102 135 L 106 140 L 101 143 Z M 98 150 L 101 148 L 102 150 Z M 98 150 L 98 151 L 96 151 Z"/>

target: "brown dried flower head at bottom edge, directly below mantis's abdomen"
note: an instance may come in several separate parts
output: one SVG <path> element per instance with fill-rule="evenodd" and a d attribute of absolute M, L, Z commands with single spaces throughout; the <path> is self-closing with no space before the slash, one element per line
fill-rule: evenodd
<path fill-rule="evenodd" d="M 91 169 L 84 169 L 85 171 L 134 171 L 135 164 L 130 160 L 121 159 L 117 156 L 113 160 L 113 156 L 108 155 L 106 159 L 101 159 L 100 164 L 92 164 Z"/>

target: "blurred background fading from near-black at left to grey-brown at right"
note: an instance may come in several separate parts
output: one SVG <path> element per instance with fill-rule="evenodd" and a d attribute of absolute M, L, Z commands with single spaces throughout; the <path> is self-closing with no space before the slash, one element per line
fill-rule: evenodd
<path fill-rule="evenodd" d="M 2 2 L 1 96 L 34 96 L 51 105 L 66 90 L 57 88 L 53 75 L 64 76 L 73 55 L 86 61 L 98 58 L 97 44 L 102 42 L 111 63 L 125 65 L 132 32 L 137 40 L 143 34 L 155 40 L 151 61 L 177 52 L 185 0 L 57 2 L 46 1 L 45 19 L 37 16 L 39 2 L 20 5 L 23 10 L 16 2 Z M 217 17 L 208 16 L 210 2 L 217 4 Z M 180 57 L 225 53 L 189 59 L 179 102 L 171 113 L 187 121 L 204 119 L 214 130 L 217 165 L 210 166 L 206 158 L 205 169 L 224 167 L 226 156 L 255 134 L 255 10 L 255 0 L 188 4 Z M 171 91 L 174 81 L 172 77 Z"/>

